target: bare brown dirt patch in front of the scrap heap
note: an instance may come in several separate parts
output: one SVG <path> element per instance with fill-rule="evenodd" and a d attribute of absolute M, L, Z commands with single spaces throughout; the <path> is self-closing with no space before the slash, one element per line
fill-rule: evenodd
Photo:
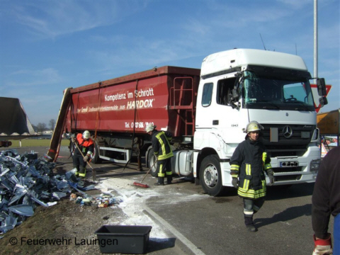
<path fill-rule="evenodd" d="M 49 208 L 38 206 L 0 240 L 1 254 L 101 254 L 94 232 L 120 215 L 117 206 L 81 206 L 69 198 Z"/>

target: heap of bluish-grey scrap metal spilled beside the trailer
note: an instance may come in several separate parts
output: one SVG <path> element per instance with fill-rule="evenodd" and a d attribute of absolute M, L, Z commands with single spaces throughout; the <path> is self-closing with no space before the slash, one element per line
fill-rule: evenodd
<path fill-rule="evenodd" d="M 84 191 L 94 188 L 94 185 L 78 186 L 76 169 L 65 175 L 55 175 L 55 165 L 49 162 L 47 155 L 40 158 L 34 152 L 19 155 L 15 149 L 1 152 L 0 234 L 32 216 L 38 205 L 55 205 L 73 189 L 85 195 Z"/>

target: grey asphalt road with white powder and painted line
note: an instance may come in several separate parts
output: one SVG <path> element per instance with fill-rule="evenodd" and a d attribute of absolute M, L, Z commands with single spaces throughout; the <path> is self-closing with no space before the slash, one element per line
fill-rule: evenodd
<path fill-rule="evenodd" d="M 18 148 L 19 153 L 32 150 L 39 155 L 47 152 L 42 147 Z M 68 156 L 67 149 L 62 148 L 58 162 L 72 169 Z M 141 181 L 147 171 L 136 171 L 134 162 L 124 171 L 123 164 L 111 162 L 93 166 L 98 183 L 114 180 L 110 185 L 125 200 L 138 198 L 122 211 L 130 220 L 135 214 L 151 219 L 148 254 L 312 254 L 313 183 L 268 187 L 266 203 L 254 215 L 259 231 L 252 233 L 244 226 L 242 199 L 233 188 L 228 188 L 224 196 L 210 197 L 186 179 L 175 178 L 169 186 L 153 186 L 156 179 L 150 175 L 143 181 L 150 188 L 140 188 L 126 184 Z M 91 179 L 91 172 L 87 178 Z M 329 232 L 333 233 L 333 217 L 330 226 Z"/>

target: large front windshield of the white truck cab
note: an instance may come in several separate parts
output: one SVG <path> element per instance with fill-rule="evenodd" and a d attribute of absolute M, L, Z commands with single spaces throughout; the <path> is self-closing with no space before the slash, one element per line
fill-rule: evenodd
<path fill-rule="evenodd" d="M 246 71 L 242 88 L 244 108 L 314 111 L 310 82 L 304 77 L 278 79 Z"/>

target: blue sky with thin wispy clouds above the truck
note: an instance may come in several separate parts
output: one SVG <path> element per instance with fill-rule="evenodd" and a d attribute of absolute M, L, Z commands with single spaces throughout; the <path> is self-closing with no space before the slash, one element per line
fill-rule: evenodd
<path fill-rule="evenodd" d="M 318 1 L 318 76 L 340 108 L 339 0 Z M 234 47 L 300 55 L 313 76 L 314 0 L 0 0 L 0 96 L 34 125 L 57 120 L 62 92 Z M 4 111 L 4 109 L 1 109 Z"/>

